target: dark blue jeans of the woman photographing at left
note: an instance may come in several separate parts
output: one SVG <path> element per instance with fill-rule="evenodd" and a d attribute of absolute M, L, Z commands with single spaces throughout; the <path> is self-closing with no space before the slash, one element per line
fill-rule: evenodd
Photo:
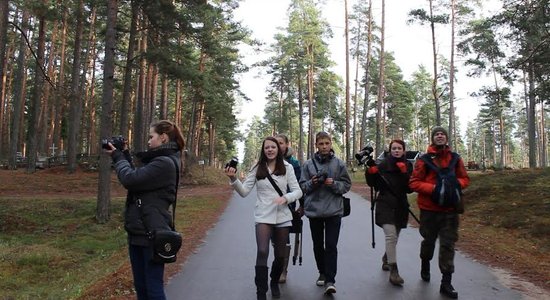
<path fill-rule="evenodd" d="M 137 299 L 165 300 L 164 264 L 151 261 L 153 253 L 150 247 L 130 245 L 128 250 Z"/>

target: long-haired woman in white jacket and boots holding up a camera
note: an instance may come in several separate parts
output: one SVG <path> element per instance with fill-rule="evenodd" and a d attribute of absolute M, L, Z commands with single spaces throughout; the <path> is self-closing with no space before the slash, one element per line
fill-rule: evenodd
<path fill-rule="evenodd" d="M 292 213 L 288 204 L 295 202 L 302 196 L 302 190 L 296 180 L 294 168 L 283 159 L 283 152 L 277 139 L 267 137 L 262 142 L 262 149 L 258 163 L 248 172 L 246 179 L 241 183 L 235 176 L 236 169 L 227 167 L 226 175 L 231 179 L 231 185 L 241 195 L 246 197 L 256 186 L 257 198 L 254 208 L 256 222 L 256 284 L 257 299 L 266 299 L 268 290 L 269 241 L 273 238 L 275 246 L 275 260 L 271 268 L 271 295 L 279 298 L 279 278 L 283 272 L 283 260 L 288 241 L 289 228 L 292 225 Z M 284 193 L 279 195 L 269 177 Z M 287 192 L 288 187 L 288 192 Z M 283 192 L 284 191 L 284 192 Z M 285 193 L 286 192 L 286 193 Z"/>

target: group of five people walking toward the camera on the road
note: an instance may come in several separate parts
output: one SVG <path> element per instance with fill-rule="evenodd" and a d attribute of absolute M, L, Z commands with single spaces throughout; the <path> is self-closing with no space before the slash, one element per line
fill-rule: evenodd
<path fill-rule="evenodd" d="M 397 241 L 400 231 L 407 227 L 409 202 L 407 194 L 418 193 L 420 209 L 420 234 L 423 237 L 420 249 L 420 277 L 429 282 L 430 261 L 435 242 L 439 238 L 439 268 L 442 273 L 440 293 L 449 298 L 458 298 L 451 284 L 454 273 L 455 243 L 458 240 L 459 211 L 456 206 L 437 203 L 433 199 L 440 193 L 440 174 L 426 165 L 448 169 L 456 178 L 458 190 L 469 184 L 462 159 L 448 146 L 448 133 L 440 126 L 431 132 L 431 144 L 423 158 L 415 166 L 406 159 L 406 145 L 402 140 L 392 140 L 386 158 L 379 163 L 370 157 L 367 160 L 365 177 L 374 188 L 377 197 L 375 220 L 385 235 L 385 253 L 382 269 L 390 271 L 389 282 L 401 286 L 404 279 L 397 267 Z M 351 189 L 351 178 L 346 164 L 337 158 L 332 149 L 331 136 L 319 132 L 315 136 L 317 152 L 300 166 L 291 155 L 288 138 L 279 134 L 263 140 L 260 158 L 241 182 L 237 170 L 225 169 L 231 185 L 241 196 L 248 195 L 254 186 L 257 199 L 254 209 L 257 255 L 255 277 L 257 299 L 266 299 L 271 289 L 273 298 L 279 298 L 279 283 L 286 282 L 286 268 L 290 253 L 289 227 L 292 211 L 297 208 L 309 219 L 313 241 L 313 253 L 319 272 L 315 284 L 324 287 L 326 294 L 336 293 L 338 239 L 343 217 L 342 195 Z M 458 157 L 455 162 L 453 157 Z M 279 193 L 277 192 L 279 190 Z M 444 189 L 443 189 L 444 190 Z M 285 191 L 280 192 L 280 191 Z M 274 261 L 268 278 L 269 244 L 273 241 Z"/>

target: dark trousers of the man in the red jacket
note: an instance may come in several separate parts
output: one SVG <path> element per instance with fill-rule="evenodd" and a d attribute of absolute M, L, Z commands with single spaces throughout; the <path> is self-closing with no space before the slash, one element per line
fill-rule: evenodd
<path fill-rule="evenodd" d="M 435 241 L 439 238 L 439 270 L 454 273 L 455 243 L 458 241 L 458 214 L 420 211 L 420 258 L 431 260 Z"/>

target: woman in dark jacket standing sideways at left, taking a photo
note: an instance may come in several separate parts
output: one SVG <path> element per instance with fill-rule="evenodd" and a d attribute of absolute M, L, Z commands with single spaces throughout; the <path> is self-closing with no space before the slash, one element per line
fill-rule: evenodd
<path fill-rule="evenodd" d="M 179 128 L 167 120 L 158 121 L 149 129 L 148 151 L 136 154 L 143 164 L 135 168 L 127 145 L 121 151 L 109 143 L 110 154 L 120 183 L 128 190 L 124 212 L 124 228 L 137 299 L 166 299 L 164 264 L 152 261 L 152 245 L 148 238 L 155 230 L 173 226 L 170 206 L 175 201 L 180 155 L 184 139 Z M 138 206 L 140 205 L 140 206 Z M 145 226 L 146 225 L 146 226 Z"/>

